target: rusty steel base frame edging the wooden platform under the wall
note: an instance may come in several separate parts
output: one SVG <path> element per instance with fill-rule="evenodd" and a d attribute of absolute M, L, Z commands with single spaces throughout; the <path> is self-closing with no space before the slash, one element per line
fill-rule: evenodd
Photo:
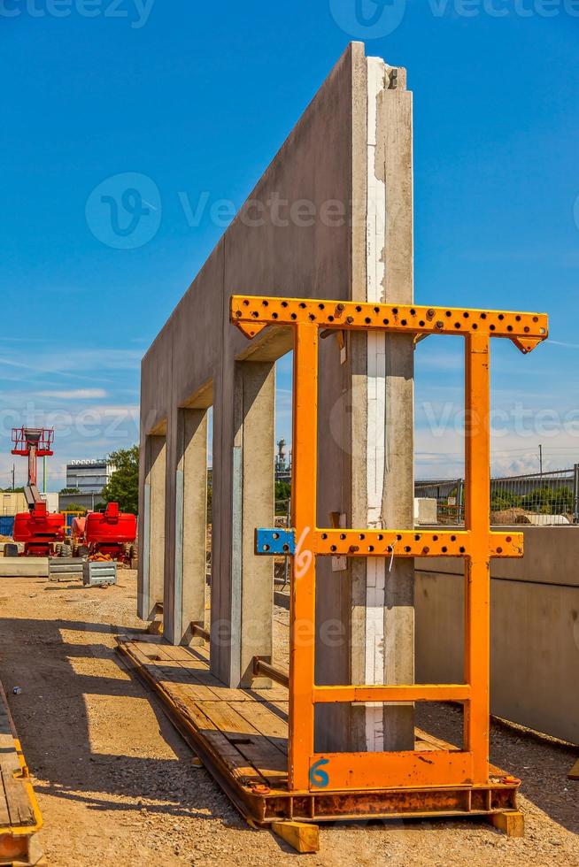
<path fill-rule="evenodd" d="M 380 789 L 350 788 L 344 791 L 294 791 L 248 784 L 236 777 L 210 738 L 195 725 L 147 667 L 131 655 L 119 639 L 117 649 L 130 671 L 160 699 L 166 716 L 199 756 L 227 794 L 230 802 L 249 825 L 271 828 L 279 822 L 370 821 L 411 818 L 487 818 L 493 825 L 511 833 L 509 817 L 521 819 L 517 794 L 521 780 L 490 766 L 489 781 L 481 786 L 412 786 Z M 439 743 L 439 741 L 436 741 Z M 449 749 L 451 749 L 449 745 Z M 428 762 L 428 752 L 421 754 Z"/>

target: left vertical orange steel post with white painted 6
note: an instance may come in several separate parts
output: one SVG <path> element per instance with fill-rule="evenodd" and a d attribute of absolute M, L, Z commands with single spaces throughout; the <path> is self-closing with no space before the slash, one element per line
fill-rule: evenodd
<path fill-rule="evenodd" d="M 297 551 L 289 610 L 289 787 L 307 790 L 313 755 L 315 557 L 318 453 L 318 326 L 295 327 L 292 522 Z"/>

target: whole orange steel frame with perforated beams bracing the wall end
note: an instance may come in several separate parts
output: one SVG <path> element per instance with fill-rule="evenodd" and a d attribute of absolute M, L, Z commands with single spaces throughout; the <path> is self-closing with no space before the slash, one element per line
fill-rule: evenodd
<path fill-rule="evenodd" d="M 490 557 L 520 557 L 522 533 L 490 532 L 491 337 L 527 353 L 544 341 L 539 313 L 452 310 L 396 304 L 234 296 L 231 319 L 250 339 L 266 326 L 294 329 L 294 431 L 289 664 L 289 790 L 378 789 L 385 786 L 489 785 Z M 341 530 L 316 526 L 318 343 L 320 329 L 459 334 L 466 344 L 466 523 L 463 531 Z M 425 557 L 465 560 L 465 683 L 404 686 L 317 686 L 315 564 L 318 556 Z M 297 640 L 298 639 L 298 640 Z M 462 702 L 465 743 L 459 750 L 317 754 L 314 710 L 320 702 Z M 517 781 L 518 783 L 518 781 Z"/>

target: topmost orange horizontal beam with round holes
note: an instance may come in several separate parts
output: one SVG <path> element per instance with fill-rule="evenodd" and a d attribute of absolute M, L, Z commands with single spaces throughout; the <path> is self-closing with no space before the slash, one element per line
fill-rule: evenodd
<path fill-rule="evenodd" d="M 378 329 L 398 334 L 489 334 L 512 340 L 525 353 L 534 349 L 549 334 L 546 313 L 304 301 L 253 295 L 233 296 L 231 318 L 248 337 L 255 337 L 268 325 L 315 323 L 320 328 L 354 331 Z"/>

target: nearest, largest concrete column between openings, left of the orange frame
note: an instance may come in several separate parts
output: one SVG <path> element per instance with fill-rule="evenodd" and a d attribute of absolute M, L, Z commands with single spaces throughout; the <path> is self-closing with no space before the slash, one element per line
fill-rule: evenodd
<path fill-rule="evenodd" d="M 214 408 L 211 664 L 238 687 L 258 683 L 253 656 L 272 654 L 273 563 L 255 556 L 254 535 L 274 520 L 275 365 L 243 361 L 232 372 L 232 405 Z"/>

